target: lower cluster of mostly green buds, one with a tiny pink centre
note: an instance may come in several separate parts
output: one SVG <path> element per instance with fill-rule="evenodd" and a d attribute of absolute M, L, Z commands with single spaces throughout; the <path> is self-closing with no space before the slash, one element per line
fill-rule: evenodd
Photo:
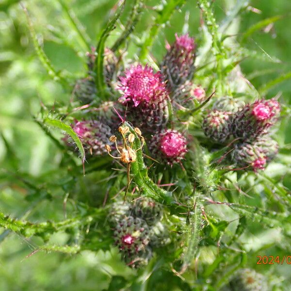
<path fill-rule="evenodd" d="M 149 198 L 134 203 L 114 202 L 108 216 L 114 228 L 114 240 L 123 259 L 131 267 L 146 264 L 151 258 L 151 246 L 169 242 L 162 224 L 162 207 Z"/>

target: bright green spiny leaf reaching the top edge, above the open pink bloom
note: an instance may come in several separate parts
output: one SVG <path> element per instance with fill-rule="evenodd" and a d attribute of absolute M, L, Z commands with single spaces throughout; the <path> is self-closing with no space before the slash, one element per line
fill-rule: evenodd
<path fill-rule="evenodd" d="M 179 9 L 185 2 L 186 0 L 168 0 L 165 2 L 165 4 L 162 6 L 162 10 L 158 12 L 159 15 L 156 17 L 155 23 L 147 33 L 146 40 L 141 47 L 141 52 L 139 56 L 140 62 L 146 60 L 149 50 L 151 49 L 153 42 L 162 25 L 170 19 L 174 11 Z"/>

